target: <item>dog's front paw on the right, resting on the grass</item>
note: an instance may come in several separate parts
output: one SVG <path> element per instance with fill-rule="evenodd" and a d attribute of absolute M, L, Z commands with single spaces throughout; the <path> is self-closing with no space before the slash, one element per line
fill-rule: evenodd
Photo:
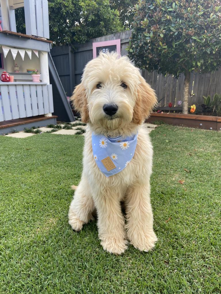
<path fill-rule="evenodd" d="M 154 233 L 139 233 L 133 234 L 129 237 L 130 244 L 140 251 L 149 251 L 154 248 L 157 237 Z"/>

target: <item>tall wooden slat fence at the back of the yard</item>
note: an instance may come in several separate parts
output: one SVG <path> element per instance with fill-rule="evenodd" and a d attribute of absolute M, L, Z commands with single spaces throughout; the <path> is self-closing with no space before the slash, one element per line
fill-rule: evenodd
<path fill-rule="evenodd" d="M 74 49 L 70 46 L 53 47 L 51 50 L 52 58 L 55 62 L 58 74 L 65 88 L 67 96 L 70 96 L 74 86 L 80 83 L 83 68 L 93 58 L 92 43 L 121 39 L 121 56 L 127 55 L 126 48 L 129 44 L 131 31 L 124 31 L 109 36 L 92 39 L 84 44 L 74 44 Z M 157 71 L 142 71 L 146 81 L 156 91 L 159 106 L 167 106 L 172 102 L 177 107 L 179 100 L 183 101 L 184 74 L 179 78 L 174 76 L 158 74 Z M 202 96 L 210 95 L 212 98 L 215 93 L 221 94 L 221 68 L 214 73 L 200 74 L 191 73 L 189 83 L 189 105 L 202 104 Z"/>

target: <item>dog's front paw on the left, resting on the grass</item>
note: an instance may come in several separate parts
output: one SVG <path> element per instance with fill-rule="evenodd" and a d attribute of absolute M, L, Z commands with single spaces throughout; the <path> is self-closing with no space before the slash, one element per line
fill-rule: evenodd
<path fill-rule="evenodd" d="M 104 250 L 110 253 L 121 254 L 127 249 L 127 243 L 127 240 L 124 239 L 105 238 L 102 239 L 100 244 L 103 246 Z"/>

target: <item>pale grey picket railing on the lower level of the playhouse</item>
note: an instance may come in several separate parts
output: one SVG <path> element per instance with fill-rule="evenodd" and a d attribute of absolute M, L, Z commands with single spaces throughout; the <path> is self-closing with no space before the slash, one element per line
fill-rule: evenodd
<path fill-rule="evenodd" d="M 52 113 L 52 85 L 0 83 L 0 121 Z"/>

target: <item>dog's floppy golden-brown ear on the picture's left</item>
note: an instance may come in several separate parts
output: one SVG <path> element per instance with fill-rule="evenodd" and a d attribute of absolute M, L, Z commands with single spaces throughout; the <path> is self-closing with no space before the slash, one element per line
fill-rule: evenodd
<path fill-rule="evenodd" d="M 70 100 L 72 101 L 72 105 L 75 107 L 77 112 L 80 112 L 81 121 L 83 123 L 88 123 L 89 121 L 88 102 L 86 98 L 85 88 L 82 85 L 82 83 L 77 85 L 77 87 L 74 89 L 74 92 Z"/>

